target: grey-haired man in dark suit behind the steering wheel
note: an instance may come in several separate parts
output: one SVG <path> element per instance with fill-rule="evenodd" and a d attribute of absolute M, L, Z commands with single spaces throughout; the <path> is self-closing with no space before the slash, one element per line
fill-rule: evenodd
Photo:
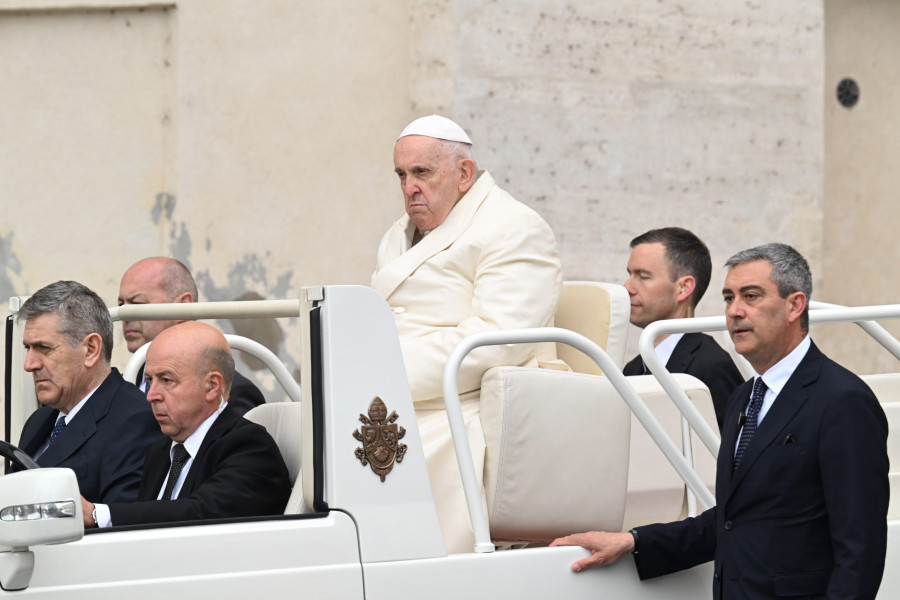
<path fill-rule="evenodd" d="M 25 370 L 43 405 L 19 445 L 42 467 L 75 471 L 96 502 L 137 498 L 141 464 L 161 434 L 140 390 L 110 367 L 113 324 L 100 297 L 74 281 L 34 293 L 25 321 Z"/>

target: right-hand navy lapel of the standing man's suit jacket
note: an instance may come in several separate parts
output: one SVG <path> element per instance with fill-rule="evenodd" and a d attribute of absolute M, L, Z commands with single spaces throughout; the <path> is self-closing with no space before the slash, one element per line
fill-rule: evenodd
<path fill-rule="evenodd" d="M 812 384 L 819 377 L 819 370 L 822 366 L 824 355 L 819 351 L 815 344 L 810 343 L 806 356 L 797 365 L 794 373 L 788 379 L 781 392 L 772 403 L 769 412 L 766 413 L 762 423 L 750 440 L 750 445 L 744 451 L 744 457 L 741 459 L 741 466 L 734 473 L 731 481 L 731 491 L 740 484 L 747 471 L 753 468 L 753 464 L 760 457 L 763 450 L 769 447 L 775 440 L 780 437 L 787 424 L 794 418 L 797 411 L 809 399 L 806 387 Z M 751 384 L 752 385 L 752 384 Z M 743 387 L 743 386 L 742 386 Z M 744 406 L 741 405 L 743 410 Z M 734 444 L 737 443 L 737 435 L 732 439 L 731 451 L 732 459 L 729 461 L 729 469 L 734 462 Z"/>

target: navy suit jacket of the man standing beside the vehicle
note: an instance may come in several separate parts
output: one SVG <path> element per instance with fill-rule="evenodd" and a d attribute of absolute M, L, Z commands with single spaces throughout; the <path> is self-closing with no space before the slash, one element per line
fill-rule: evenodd
<path fill-rule="evenodd" d="M 874 598 L 889 499 L 888 426 L 874 394 L 811 345 L 732 476 L 738 415 L 751 388 L 739 387 L 728 407 L 717 506 L 639 527 L 639 575 L 714 558 L 716 599 Z"/>

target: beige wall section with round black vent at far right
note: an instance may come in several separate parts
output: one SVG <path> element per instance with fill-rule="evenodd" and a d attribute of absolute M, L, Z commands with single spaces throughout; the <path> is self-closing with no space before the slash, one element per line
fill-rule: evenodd
<path fill-rule="evenodd" d="M 897 227 L 900 225 L 900 3 L 825 2 L 824 277 L 817 296 L 850 305 L 900 299 Z M 858 103 L 845 108 L 836 89 L 859 85 Z M 883 325 L 900 336 L 900 321 Z M 893 372 L 897 360 L 855 325 L 814 331 L 836 360 L 861 373 Z"/>

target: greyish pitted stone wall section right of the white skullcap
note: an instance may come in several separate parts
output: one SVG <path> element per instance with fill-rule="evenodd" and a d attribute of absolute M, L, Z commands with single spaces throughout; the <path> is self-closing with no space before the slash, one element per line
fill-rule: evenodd
<path fill-rule="evenodd" d="M 820 272 L 819 2 L 417 4 L 417 107 L 466 124 L 556 231 L 568 279 L 623 281 L 628 242 L 668 225 L 717 266 L 782 241 Z M 723 281 L 699 314 L 721 314 Z"/>

